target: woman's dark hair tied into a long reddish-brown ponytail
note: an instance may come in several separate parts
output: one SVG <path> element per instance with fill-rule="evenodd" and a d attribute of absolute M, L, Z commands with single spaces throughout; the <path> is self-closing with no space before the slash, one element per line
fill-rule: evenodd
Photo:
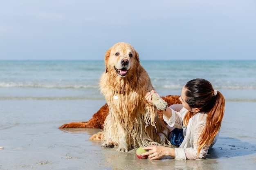
<path fill-rule="evenodd" d="M 205 79 L 193 79 L 187 82 L 186 103 L 191 108 L 199 108 L 200 112 L 207 114 L 205 128 L 198 138 L 198 156 L 204 145 L 211 145 L 218 134 L 225 111 L 225 99 L 223 95 L 213 89 L 210 82 Z M 188 111 L 184 117 L 184 125 L 187 126 L 193 113 Z"/>

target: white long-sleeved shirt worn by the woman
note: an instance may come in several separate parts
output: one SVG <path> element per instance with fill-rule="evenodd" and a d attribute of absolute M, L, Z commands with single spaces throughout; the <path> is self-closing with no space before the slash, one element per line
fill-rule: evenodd
<path fill-rule="evenodd" d="M 179 112 L 173 110 L 171 108 L 172 115 L 170 119 L 168 119 L 165 115 L 163 115 L 164 121 L 171 127 L 183 128 L 184 131 L 184 140 L 179 148 L 175 148 L 175 159 L 202 159 L 205 158 L 209 148 L 215 144 L 218 135 L 216 135 L 213 144 L 211 146 L 205 145 L 200 150 L 199 156 L 198 152 L 198 138 L 200 137 L 202 131 L 204 130 L 206 124 L 207 114 L 205 113 L 196 113 L 193 117 L 189 119 L 189 123 L 187 127 L 182 126 L 182 122 L 184 116 L 188 112 L 186 108 L 182 108 Z"/>

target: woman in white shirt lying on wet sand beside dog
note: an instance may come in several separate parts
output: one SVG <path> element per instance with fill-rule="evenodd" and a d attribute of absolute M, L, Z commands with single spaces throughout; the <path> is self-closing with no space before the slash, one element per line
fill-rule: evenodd
<path fill-rule="evenodd" d="M 151 93 L 146 94 L 146 99 L 154 105 Z M 224 115 L 223 95 L 214 90 L 207 80 L 193 79 L 182 88 L 180 101 L 180 105 L 167 107 L 163 115 L 171 131 L 169 140 L 176 146 L 180 141 L 180 147 L 147 146 L 143 149 L 149 151 L 143 156 L 148 155 L 148 159 L 160 159 L 164 156 L 182 160 L 203 159 L 215 144 Z"/>

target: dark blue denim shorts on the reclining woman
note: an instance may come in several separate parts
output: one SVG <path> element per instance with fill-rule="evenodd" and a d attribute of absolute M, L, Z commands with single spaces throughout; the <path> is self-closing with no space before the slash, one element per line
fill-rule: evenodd
<path fill-rule="evenodd" d="M 175 128 L 169 133 L 169 136 L 168 136 L 168 140 L 174 146 L 180 146 L 183 139 L 184 139 L 183 129 Z"/>

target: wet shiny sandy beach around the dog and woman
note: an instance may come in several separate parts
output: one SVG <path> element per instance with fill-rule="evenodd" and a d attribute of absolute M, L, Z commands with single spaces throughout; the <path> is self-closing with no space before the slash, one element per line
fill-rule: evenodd
<path fill-rule="evenodd" d="M 207 159 L 141 160 L 135 150 L 122 153 L 89 141 L 99 129 L 58 129 L 64 123 L 90 119 L 103 100 L 1 101 L 1 170 L 254 170 L 256 166 L 256 114 L 247 114 L 254 102 L 226 102 L 219 139 Z M 47 106 L 47 107 L 45 107 Z M 76 113 L 74 113 L 74 108 Z M 10 118 L 12 117 L 12 119 Z M 13 121 L 13 119 L 16 121 Z"/>

